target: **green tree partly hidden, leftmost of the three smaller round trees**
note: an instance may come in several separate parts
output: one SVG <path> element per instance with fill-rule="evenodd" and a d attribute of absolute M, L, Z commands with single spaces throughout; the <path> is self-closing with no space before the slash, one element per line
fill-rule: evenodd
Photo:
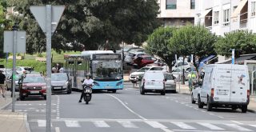
<path fill-rule="evenodd" d="M 157 55 L 162 58 L 164 62 L 170 67 L 172 67 L 172 62 L 175 59 L 176 51 L 175 48 L 170 44 L 170 38 L 173 36 L 175 27 L 158 27 L 154 30 L 153 34 L 150 34 L 147 44 L 145 46 L 146 52 L 149 54 Z"/>

